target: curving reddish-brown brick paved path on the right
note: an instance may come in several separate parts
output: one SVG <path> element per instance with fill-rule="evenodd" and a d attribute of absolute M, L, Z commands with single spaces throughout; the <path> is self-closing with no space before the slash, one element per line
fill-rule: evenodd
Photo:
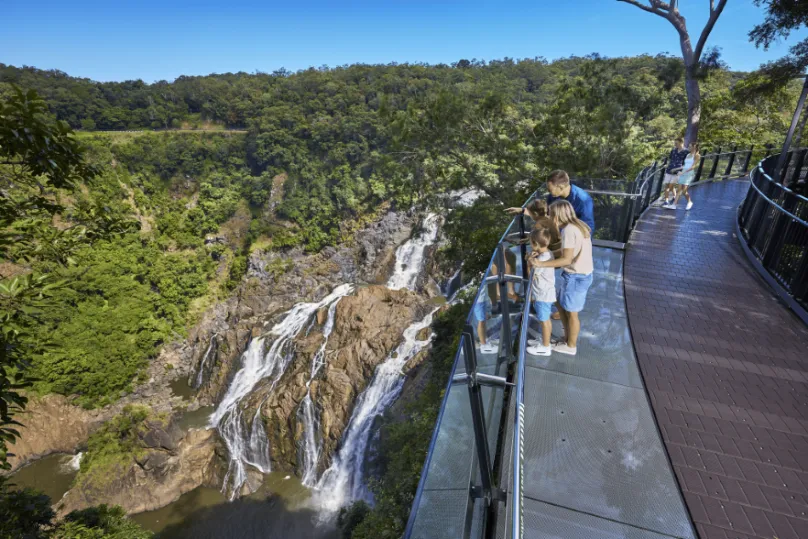
<path fill-rule="evenodd" d="M 808 330 L 735 237 L 748 183 L 652 209 L 625 262 L 640 369 L 702 539 L 808 539 Z"/>

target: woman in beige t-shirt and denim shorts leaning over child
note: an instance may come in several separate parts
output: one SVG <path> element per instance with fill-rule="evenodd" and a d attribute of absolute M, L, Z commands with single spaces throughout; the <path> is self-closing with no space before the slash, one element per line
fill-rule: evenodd
<path fill-rule="evenodd" d="M 554 351 L 574 356 L 578 352 L 578 334 L 581 321 L 578 313 L 586 304 L 586 293 L 592 285 L 592 231 L 575 215 L 575 210 L 566 200 L 557 200 L 550 205 L 550 216 L 561 230 L 561 256 L 554 260 L 534 260 L 536 268 L 563 268 L 561 288 L 556 306 L 564 326 L 564 341 L 556 344 Z"/>

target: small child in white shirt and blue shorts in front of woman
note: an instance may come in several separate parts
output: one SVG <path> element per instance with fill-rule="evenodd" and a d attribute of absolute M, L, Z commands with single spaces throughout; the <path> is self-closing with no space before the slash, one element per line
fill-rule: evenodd
<path fill-rule="evenodd" d="M 553 268 L 538 267 L 535 264 L 553 259 L 553 253 L 550 252 L 550 236 L 550 231 L 546 228 L 534 228 L 530 233 L 530 247 L 533 252 L 530 253 L 528 260 L 535 267 L 530 300 L 541 325 L 542 340 L 531 343 L 532 346 L 527 348 L 527 353 L 537 356 L 549 356 L 551 351 L 550 334 L 553 323 L 550 322 L 550 309 L 555 302 L 555 271 Z"/>

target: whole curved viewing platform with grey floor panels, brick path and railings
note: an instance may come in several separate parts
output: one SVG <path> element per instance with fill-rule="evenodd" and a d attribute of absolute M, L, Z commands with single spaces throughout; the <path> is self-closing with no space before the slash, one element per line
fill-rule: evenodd
<path fill-rule="evenodd" d="M 783 203 L 762 166 L 757 187 L 731 179 L 750 159 L 705 156 L 702 180 L 724 181 L 694 185 L 690 211 L 651 204 L 664 163 L 634 182 L 578 181 L 603 229 L 574 357 L 527 353 L 538 324 L 518 240 L 531 223 L 511 223 L 492 264 L 515 267 L 489 265 L 475 297 L 499 307 L 484 324 L 497 352 L 481 352 L 470 313 L 405 537 L 808 537 L 795 314 L 808 204 Z M 509 283 L 518 302 L 497 299 Z"/>

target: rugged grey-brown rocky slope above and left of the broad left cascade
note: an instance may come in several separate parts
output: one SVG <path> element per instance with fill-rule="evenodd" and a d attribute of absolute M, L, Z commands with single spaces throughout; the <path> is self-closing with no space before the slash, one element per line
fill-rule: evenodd
<path fill-rule="evenodd" d="M 202 402 L 215 403 L 227 390 L 233 364 L 253 332 L 277 322 L 294 304 L 320 300 L 340 284 L 382 282 L 412 225 L 410 216 L 387 212 L 357 231 L 351 241 L 317 254 L 301 249 L 253 252 L 236 293 L 209 310 L 191 330 L 176 365 L 178 372 L 188 376 L 192 386 L 199 385 Z M 213 351 L 212 343 L 216 343 Z"/>

